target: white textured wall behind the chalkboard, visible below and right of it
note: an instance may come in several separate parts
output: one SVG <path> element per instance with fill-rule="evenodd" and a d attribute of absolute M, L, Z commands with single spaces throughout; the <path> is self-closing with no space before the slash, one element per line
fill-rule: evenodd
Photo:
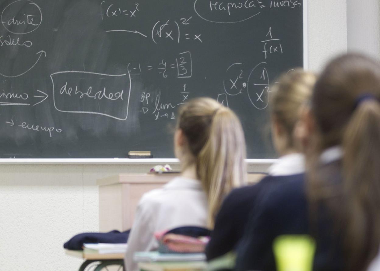
<path fill-rule="evenodd" d="M 318 71 L 347 50 L 346 0 L 308 2 L 309 68 Z M 0 166 L 0 269 L 77 270 L 81 261 L 65 256 L 62 244 L 76 233 L 98 230 L 96 179 L 148 168 Z"/>

